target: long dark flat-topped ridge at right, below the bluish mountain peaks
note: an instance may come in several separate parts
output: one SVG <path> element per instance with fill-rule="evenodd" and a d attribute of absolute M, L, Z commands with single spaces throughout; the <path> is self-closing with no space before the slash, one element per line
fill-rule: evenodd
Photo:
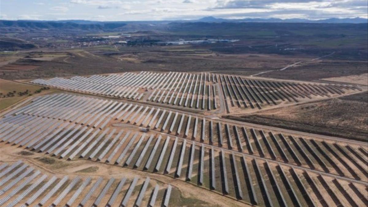
<path fill-rule="evenodd" d="M 368 24 L 329 24 L 293 22 L 171 22 L 167 30 L 185 35 L 278 36 L 315 35 L 336 37 L 367 35 Z M 298 31 L 298 32 L 296 32 Z"/>

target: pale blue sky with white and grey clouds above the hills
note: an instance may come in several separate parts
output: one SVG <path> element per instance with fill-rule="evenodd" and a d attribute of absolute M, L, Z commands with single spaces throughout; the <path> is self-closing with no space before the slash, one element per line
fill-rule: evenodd
<path fill-rule="evenodd" d="M 0 0 L 0 19 L 368 18 L 367 4 L 367 0 Z"/>

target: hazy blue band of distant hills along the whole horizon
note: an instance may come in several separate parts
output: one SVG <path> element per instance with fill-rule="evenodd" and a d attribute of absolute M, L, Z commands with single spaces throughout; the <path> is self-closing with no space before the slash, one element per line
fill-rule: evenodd
<path fill-rule="evenodd" d="M 204 17 L 199 20 L 178 20 L 178 21 L 88 21 L 88 20 L 61 20 L 61 21 L 36 21 L 36 20 L 0 20 L 0 28 L 3 31 L 14 31 L 18 30 L 82 30 L 82 31 L 164 31 L 164 30 L 176 30 L 181 31 L 182 28 L 187 28 L 190 30 L 201 31 L 204 29 L 226 29 L 231 28 L 238 30 L 241 28 L 236 28 L 239 26 L 252 27 L 252 25 L 236 25 L 236 24 L 268 24 L 267 27 L 289 27 L 285 23 L 293 24 L 306 24 L 306 23 L 319 23 L 319 24 L 331 24 L 331 23 L 344 23 L 344 24 L 367 24 L 368 20 L 363 18 L 330 18 L 326 20 L 305 20 L 305 19 L 261 19 L 261 18 L 246 18 L 240 20 L 229 20 L 215 17 Z M 201 23 L 208 23 L 211 25 L 201 25 Z M 235 25 L 233 25 L 235 24 Z M 351 25 L 354 25 L 351 24 Z M 331 24 L 335 25 L 335 24 Z M 319 25 L 321 26 L 321 25 Z M 340 25 L 344 27 L 343 24 Z M 198 28 L 197 28 L 198 27 Z M 201 28 L 204 27 L 204 28 Z M 235 28 L 233 28 L 235 27 Z M 305 25 L 304 25 L 305 27 Z M 335 26 L 333 26 L 335 27 Z M 366 26 L 359 26 L 366 27 Z M 244 28 L 243 28 L 244 29 Z M 243 30 L 242 29 L 242 30 Z M 215 30 L 215 33 L 218 32 Z"/>

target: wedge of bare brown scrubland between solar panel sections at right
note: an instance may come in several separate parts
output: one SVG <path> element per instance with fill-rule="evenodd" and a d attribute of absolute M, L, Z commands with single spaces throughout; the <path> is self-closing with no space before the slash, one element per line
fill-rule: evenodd
<path fill-rule="evenodd" d="M 276 108 L 247 116 L 226 116 L 244 122 L 367 141 L 367 92 L 320 102 Z"/>

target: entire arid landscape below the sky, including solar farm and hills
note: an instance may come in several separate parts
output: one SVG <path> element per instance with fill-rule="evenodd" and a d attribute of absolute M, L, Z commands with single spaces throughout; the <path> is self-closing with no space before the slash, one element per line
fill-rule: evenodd
<path fill-rule="evenodd" d="M 367 24 L 0 25 L 0 206 L 367 206 Z"/>

